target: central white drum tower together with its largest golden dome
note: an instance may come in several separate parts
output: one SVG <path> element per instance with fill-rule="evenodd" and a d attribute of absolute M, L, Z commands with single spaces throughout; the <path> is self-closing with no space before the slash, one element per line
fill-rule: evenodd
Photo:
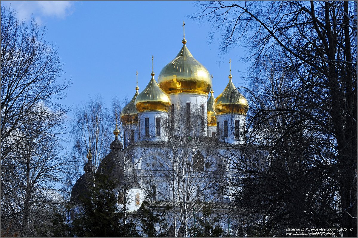
<path fill-rule="evenodd" d="M 175 123 L 173 118 L 185 121 L 183 118 L 185 114 L 187 119 L 189 114 L 198 114 L 202 117 L 202 120 L 199 120 L 202 135 L 206 136 L 207 100 L 212 87 L 212 78 L 204 65 L 190 53 L 186 46 L 185 33 L 182 43 L 183 47 L 178 55 L 160 71 L 158 84 L 171 99 L 172 115 L 169 120 L 171 126 L 178 130 L 180 124 Z"/>

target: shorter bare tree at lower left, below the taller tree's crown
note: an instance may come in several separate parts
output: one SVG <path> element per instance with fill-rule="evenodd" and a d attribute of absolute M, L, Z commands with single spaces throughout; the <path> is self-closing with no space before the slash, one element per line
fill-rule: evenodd
<path fill-rule="evenodd" d="M 64 203 L 62 183 L 69 160 L 49 131 L 44 134 L 38 130 L 51 123 L 53 118 L 48 115 L 24 117 L 26 125 L 16 131 L 23 138 L 21 144 L 1 161 L 6 168 L 1 179 L 2 235 L 42 235 L 37 233 L 38 227 L 47 224 Z"/>

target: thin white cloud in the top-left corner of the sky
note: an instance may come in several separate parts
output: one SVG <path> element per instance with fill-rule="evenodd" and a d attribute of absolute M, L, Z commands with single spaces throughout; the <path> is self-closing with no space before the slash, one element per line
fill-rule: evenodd
<path fill-rule="evenodd" d="M 72 14 L 74 1 L 2 1 L 6 8 L 13 8 L 19 20 L 29 21 L 32 16 L 41 22 L 43 18 L 64 19 Z"/>

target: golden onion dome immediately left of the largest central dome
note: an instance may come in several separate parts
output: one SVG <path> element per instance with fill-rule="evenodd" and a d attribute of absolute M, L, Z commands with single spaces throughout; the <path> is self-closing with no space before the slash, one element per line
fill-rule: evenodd
<path fill-rule="evenodd" d="M 170 98 L 156 83 L 154 72 L 145 89 L 138 95 L 135 107 L 138 112 L 163 111 L 167 112 L 170 106 Z"/>

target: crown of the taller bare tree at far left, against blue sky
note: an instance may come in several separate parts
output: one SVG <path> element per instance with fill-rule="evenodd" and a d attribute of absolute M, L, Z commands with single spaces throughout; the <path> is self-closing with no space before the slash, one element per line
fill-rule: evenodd
<path fill-rule="evenodd" d="M 61 122 L 66 109 L 59 103 L 65 96 L 69 81 L 59 81 L 63 64 L 55 45 L 45 41 L 46 30 L 39 29 L 33 19 L 29 24 L 16 19 L 12 9 L 1 7 L 1 159 L 22 143 L 14 131 L 24 127 L 25 117 L 43 113 L 42 105 L 59 118 L 55 122 L 63 132 Z M 37 128 L 47 133 L 54 124 Z"/>

